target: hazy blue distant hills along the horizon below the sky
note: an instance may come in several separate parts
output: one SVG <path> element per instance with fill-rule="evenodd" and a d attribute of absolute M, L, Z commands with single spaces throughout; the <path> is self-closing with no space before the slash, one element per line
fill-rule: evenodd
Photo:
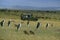
<path fill-rule="evenodd" d="M 60 7 L 32 7 L 32 6 L 12 6 L 7 9 L 21 9 L 21 10 L 60 10 Z"/>

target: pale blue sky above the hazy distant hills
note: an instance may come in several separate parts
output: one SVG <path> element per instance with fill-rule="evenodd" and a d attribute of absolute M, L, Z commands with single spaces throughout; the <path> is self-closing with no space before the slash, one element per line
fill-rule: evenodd
<path fill-rule="evenodd" d="M 60 7 L 60 0 L 0 0 L 0 7 Z"/>

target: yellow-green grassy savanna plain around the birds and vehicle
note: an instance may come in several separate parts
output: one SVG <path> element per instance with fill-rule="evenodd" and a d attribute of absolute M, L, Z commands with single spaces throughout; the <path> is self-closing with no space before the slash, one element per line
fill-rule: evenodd
<path fill-rule="evenodd" d="M 30 21 L 28 27 L 27 20 L 21 20 L 22 13 L 32 13 L 34 17 L 38 17 L 38 21 Z M 0 21 L 3 19 L 5 23 L 3 27 L 0 25 L 0 40 L 60 40 L 60 11 L 0 10 Z M 13 22 L 8 27 L 7 22 L 10 19 Z M 35 30 L 37 22 L 41 25 Z M 22 23 L 20 30 L 16 31 L 15 23 Z M 49 26 L 46 29 L 47 23 Z M 30 30 L 35 34 L 30 34 Z"/>

